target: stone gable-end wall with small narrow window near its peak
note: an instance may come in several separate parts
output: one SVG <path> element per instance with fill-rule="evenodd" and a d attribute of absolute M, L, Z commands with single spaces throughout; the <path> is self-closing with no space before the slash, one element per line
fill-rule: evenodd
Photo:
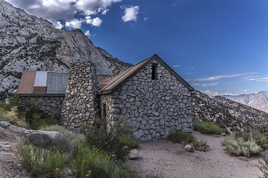
<path fill-rule="evenodd" d="M 152 63 L 157 79 L 152 80 Z M 108 120 L 125 115 L 140 141 L 161 139 L 165 132 L 191 131 L 191 94 L 158 61 L 141 69 L 112 94 L 101 96 Z M 103 114 L 103 108 L 102 108 Z"/>

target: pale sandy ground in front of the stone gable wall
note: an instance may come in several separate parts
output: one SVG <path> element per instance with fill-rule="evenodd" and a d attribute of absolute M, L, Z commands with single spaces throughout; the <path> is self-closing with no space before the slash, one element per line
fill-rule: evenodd
<path fill-rule="evenodd" d="M 248 161 L 242 161 L 223 150 L 221 141 L 224 136 L 204 135 L 200 132 L 193 132 L 193 135 L 207 139 L 207 152 L 188 153 L 184 151 L 182 144 L 159 140 L 141 143 L 140 158 L 127 160 L 126 163 L 134 168 L 140 177 L 156 174 L 157 171 L 163 172 L 165 178 L 257 178 L 261 175 L 257 167 L 258 160 L 262 160 L 260 157 L 250 157 Z"/>

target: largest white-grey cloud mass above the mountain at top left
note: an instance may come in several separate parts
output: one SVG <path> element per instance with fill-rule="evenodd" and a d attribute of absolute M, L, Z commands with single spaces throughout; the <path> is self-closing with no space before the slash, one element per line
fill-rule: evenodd
<path fill-rule="evenodd" d="M 52 21 L 58 27 L 58 21 L 70 22 L 76 14 L 106 14 L 113 3 L 121 0 L 6 0 L 13 6 L 25 10 L 31 15 Z M 68 23 L 69 24 L 69 23 Z"/>

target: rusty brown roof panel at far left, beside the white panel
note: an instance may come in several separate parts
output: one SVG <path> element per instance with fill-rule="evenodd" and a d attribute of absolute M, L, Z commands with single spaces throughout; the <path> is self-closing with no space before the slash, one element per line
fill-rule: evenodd
<path fill-rule="evenodd" d="M 22 72 L 17 94 L 31 94 L 33 91 L 36 71 L 24 70 Z"/>

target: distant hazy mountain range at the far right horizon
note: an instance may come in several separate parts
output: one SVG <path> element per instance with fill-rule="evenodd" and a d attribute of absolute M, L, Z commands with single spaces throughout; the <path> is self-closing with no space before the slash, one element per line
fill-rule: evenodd
<path fill-rule="evenodd" d="M 258 92 L 256 94 L 224 95 L 222 97 L 268 112 L 267 91 Z"/>

